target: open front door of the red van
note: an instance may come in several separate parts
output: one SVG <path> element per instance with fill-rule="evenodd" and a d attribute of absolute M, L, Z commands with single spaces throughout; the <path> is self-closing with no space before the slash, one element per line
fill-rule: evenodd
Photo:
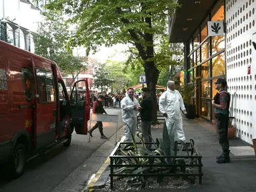
<path fill-rule="evenodd" d="M 83 83 L 84 82 L 84 83 Z M 79 84 L 85 84 L 86 90 L 79 89 Z M 84 97 L 86 91 L 86 97 Z M 88 120 L 90 119 L 90 94 L 88 79 L 76 81 L 70 94 L 70 107 L 72 112 L 72 127 L 80 135 L 88 134 Z"/>

